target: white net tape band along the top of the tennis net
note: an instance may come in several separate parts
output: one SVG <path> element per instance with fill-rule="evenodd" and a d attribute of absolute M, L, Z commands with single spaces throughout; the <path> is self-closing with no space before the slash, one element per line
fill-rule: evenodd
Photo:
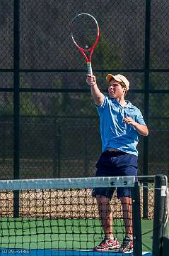
<path fill-rule="evenodd" d="M 134 187 L 135 176 L 1 180 L 0 190 Z"/>

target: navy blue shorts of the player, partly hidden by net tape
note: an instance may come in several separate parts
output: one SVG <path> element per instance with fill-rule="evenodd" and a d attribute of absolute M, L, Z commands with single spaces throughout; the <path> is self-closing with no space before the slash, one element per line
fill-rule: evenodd
<path fill-rule="evenodd" d="M 95 176 L 137 176 L 137 156 L 122 151 L 105 151 L 101 154 Z M 93 188 L 93 196 L 112 199 L 116 188 Z M 117 198 L 131 197 L 131 188 L 117 188 Z"/>

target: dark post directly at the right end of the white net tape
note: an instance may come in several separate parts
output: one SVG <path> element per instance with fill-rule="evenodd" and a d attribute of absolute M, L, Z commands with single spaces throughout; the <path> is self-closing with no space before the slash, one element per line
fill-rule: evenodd
<path fill-rule="evenodd" d="M 132 188 L 132 222 L 133 222 L 133 255 L 142 256 L 141 240 L 141 210 L 140 210 L 140 185 L 138 182 Z"/>

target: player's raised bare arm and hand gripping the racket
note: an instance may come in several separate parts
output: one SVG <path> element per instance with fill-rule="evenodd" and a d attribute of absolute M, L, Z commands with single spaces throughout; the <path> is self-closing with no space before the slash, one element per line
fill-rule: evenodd
<path fill-rule="evenodd" d="M 91 85 L 91 95 L 93 97 L 93 100 L 95 101 L 95 104 L 98 106 L 102 105 L 105 99 L 105 95 L 103 95 L 103 93 L 100 92 L 100 90 L 98 89 L 95 75 L 87 74 L 86 82 L 88 85 Z"/>

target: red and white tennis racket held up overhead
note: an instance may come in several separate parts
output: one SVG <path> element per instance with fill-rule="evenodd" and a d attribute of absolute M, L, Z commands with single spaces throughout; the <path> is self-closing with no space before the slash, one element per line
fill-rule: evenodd
<path fill-rule="evenodd" d="M 71 38 L 86 60 L 88 74 L 93 75 L 91 56 L 99 39 L 99 27 L 96 19 L 91 14 L 75 16 L 71 21 Z M 88 57 L 87 53 L 89 53 Z"/>

